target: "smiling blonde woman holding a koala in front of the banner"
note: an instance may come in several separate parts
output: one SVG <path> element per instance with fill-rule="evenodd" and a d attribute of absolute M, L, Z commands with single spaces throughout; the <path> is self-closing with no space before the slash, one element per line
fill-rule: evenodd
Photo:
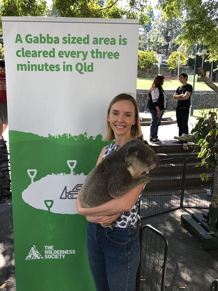
<path fill-rule="evenodd" d="M 105 141 L 115 142 L 105 146 L 97 164 L 111 151 L 130 139 L 142 134 L 136 100 L 128 94 L 117 95 L 107 112 L 107 136 Z M 138 173 L 136 176 L 140 176 Z M 140 243 L 137 231 L 137 213 L 141 184 L 121 198 L 112 199 L 101 206 L 82 208 L 77 199 L 79 214 L 88 223 L 88 259 L 97 291 L 133 291 L 140 261 Z M 113 230 L 101 223 L 117 219 Z"/>

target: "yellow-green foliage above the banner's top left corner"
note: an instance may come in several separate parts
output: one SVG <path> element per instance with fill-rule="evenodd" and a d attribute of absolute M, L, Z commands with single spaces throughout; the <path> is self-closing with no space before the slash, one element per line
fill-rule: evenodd
<path fill-rule="evenodd" d="M 45 0 L 2 0 L 0 16 L 46 16 L 47 8 Z"/>

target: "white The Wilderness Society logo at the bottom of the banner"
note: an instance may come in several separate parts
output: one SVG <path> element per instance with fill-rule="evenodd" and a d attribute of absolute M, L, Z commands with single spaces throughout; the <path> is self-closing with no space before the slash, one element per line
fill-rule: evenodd
<path fill-rule="evenodd" d="M 64 259 L 66 255 L 73 255 L 76 253 L 74 249 L 54 249 L 54 246 L 44 246 L 44 254 L 36 249 L 33 245 L 26 256 L 25 260 L 35 260 L 35 259 Z"/>

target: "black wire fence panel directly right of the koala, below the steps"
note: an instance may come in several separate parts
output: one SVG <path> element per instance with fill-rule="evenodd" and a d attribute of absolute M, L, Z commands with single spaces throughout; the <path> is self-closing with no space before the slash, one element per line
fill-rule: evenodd
<path fill-rule="evenodd" d="M 150 183 L 145 186 L 139 204 L 141 218 L 182 207 L 186 159 L 161 160 L 150 170 Z"/>

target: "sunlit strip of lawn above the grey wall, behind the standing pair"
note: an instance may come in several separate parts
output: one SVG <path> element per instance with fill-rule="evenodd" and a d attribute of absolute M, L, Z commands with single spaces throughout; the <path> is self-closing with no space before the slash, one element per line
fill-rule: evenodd
<path fill-rule="evenodd" d="M 137 78 L 137 89 L 150 89 L 152 78 Z M 189 82 L 193 85 L 193 82 Z M 177 80 L 164 80 L 163 89 L 165 90 L 176 90 L 181 85 L 180 81 Z M 217 83 L 215 84 L 217 85 Z M 195 91 L 213 91 L 204 82 L 195 82 Z"/>

